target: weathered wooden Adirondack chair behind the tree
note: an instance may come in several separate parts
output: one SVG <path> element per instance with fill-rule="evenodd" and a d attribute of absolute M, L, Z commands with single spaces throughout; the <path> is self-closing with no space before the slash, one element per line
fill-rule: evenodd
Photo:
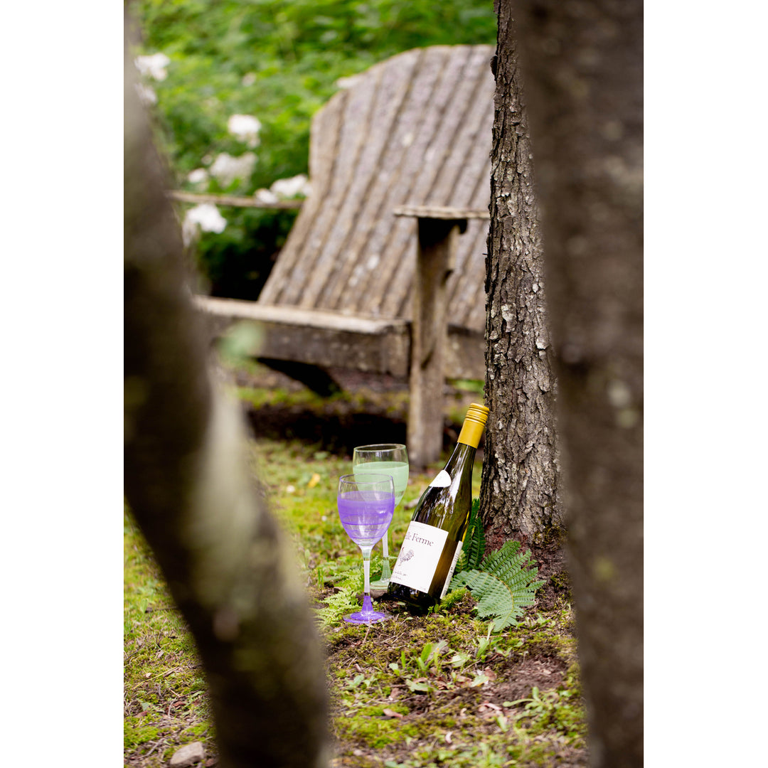
<path fill-rule="evenodd" d="M 335 94 L 313 118 L 312 192 L 258 301 L 198 297 L 213 333 L 259 323 L 257 356 L 275 366 L 408 375 L 414 466 L 439 459 L 446 375 L 485 378 L 493 54 L 416 48 Z"/>

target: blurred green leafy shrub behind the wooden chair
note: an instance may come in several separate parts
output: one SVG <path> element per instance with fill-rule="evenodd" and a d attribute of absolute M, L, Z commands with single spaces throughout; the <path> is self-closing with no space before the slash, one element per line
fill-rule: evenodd
<path fill-rule="evenodd" d="M 492 44 L 496 36 L 490 0 L 134 0 L 131 7 L 141 31 L 136 54 L 168 59 L 164 78 L 145 78 L 145 88 L 156 99 L 158 143 L 177 188 L 214 194 L 251 195 L 306 174 L 310 121 L 339 78 L 409 48 Z M 228 130 L 236 114 L 260 122 L 255 146 Z M 243 177 L 189 180 L 223 153 L 247 152 L 256 162 Z M 255 298 L 296 213 L 221 213 L 227 227 L 198 240 L 198 263 L 214 295 Z"/>

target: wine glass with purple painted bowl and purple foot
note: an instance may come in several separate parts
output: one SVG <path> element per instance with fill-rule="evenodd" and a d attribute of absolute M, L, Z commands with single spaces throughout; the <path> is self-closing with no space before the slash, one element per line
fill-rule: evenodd
<path fill-rule="evenodd" d="M 371 550 L 392 522 L 395 511 L 395 486 L 391 475 L 360 472 L 342 475 L 336 495 L 339 519 L 344 530 L 362 550 L 362 568 L 365 573 L 362 610 L 348 614 L 344 621 L 350 624 L 372 624 L 389 618 L 389 614 L 374 611 L 371 603 Z"/>

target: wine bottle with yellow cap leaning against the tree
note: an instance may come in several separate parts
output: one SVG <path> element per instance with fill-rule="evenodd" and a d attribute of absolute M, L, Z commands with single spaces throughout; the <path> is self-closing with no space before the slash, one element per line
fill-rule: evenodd
<path fill-rule="evenodd" d="M 451 458 L 413 511 L 389 577 L 388 599 L 425 611 L 445 597 L 472 509 L 472 466 L 487 420 L 488 409 L 473 402 Z"/>

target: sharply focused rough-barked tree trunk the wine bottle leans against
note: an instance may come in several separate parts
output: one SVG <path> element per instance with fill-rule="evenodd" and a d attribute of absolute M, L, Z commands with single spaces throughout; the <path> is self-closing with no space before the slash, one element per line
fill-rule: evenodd
<path fill-rule="evenodd" d="M 485 404 L 491 412 L 480 501 L 493 549 L 509 538 L 541 545 L 562 521 L 531 146 L 512 18 L 507 5 L 499 10 L 485 280 Z"/>

